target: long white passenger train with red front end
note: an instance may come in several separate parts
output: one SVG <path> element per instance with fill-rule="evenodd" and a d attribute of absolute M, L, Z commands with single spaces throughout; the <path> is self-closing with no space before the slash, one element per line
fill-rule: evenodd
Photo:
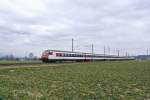
<path fill-rule="evenodd" d="M 86 61 L 116 61 L 116 60 L 134 60 L 133 57 L 115 56 L 85 52 L 72 52 L 62 50 L 45 50 L 42 53 L 41 60 L 45 63 L 54 62 L 86 62 Z"/>

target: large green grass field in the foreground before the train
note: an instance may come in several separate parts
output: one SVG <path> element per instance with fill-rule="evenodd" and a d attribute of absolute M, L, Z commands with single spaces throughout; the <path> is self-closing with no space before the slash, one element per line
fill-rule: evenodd
<path fill-rule="evenodd" d="M 0 69 L 0 100 L 150 100 L 150 62 Z"/>

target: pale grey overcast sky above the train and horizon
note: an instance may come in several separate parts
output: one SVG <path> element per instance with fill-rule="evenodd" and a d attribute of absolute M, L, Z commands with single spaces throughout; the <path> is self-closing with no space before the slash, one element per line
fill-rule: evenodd
<path fill-rule="evenodd" d="M 0 53 L 45 49 L 143 54 L 150 48 L 149 0 L 0 0 Z"/>

